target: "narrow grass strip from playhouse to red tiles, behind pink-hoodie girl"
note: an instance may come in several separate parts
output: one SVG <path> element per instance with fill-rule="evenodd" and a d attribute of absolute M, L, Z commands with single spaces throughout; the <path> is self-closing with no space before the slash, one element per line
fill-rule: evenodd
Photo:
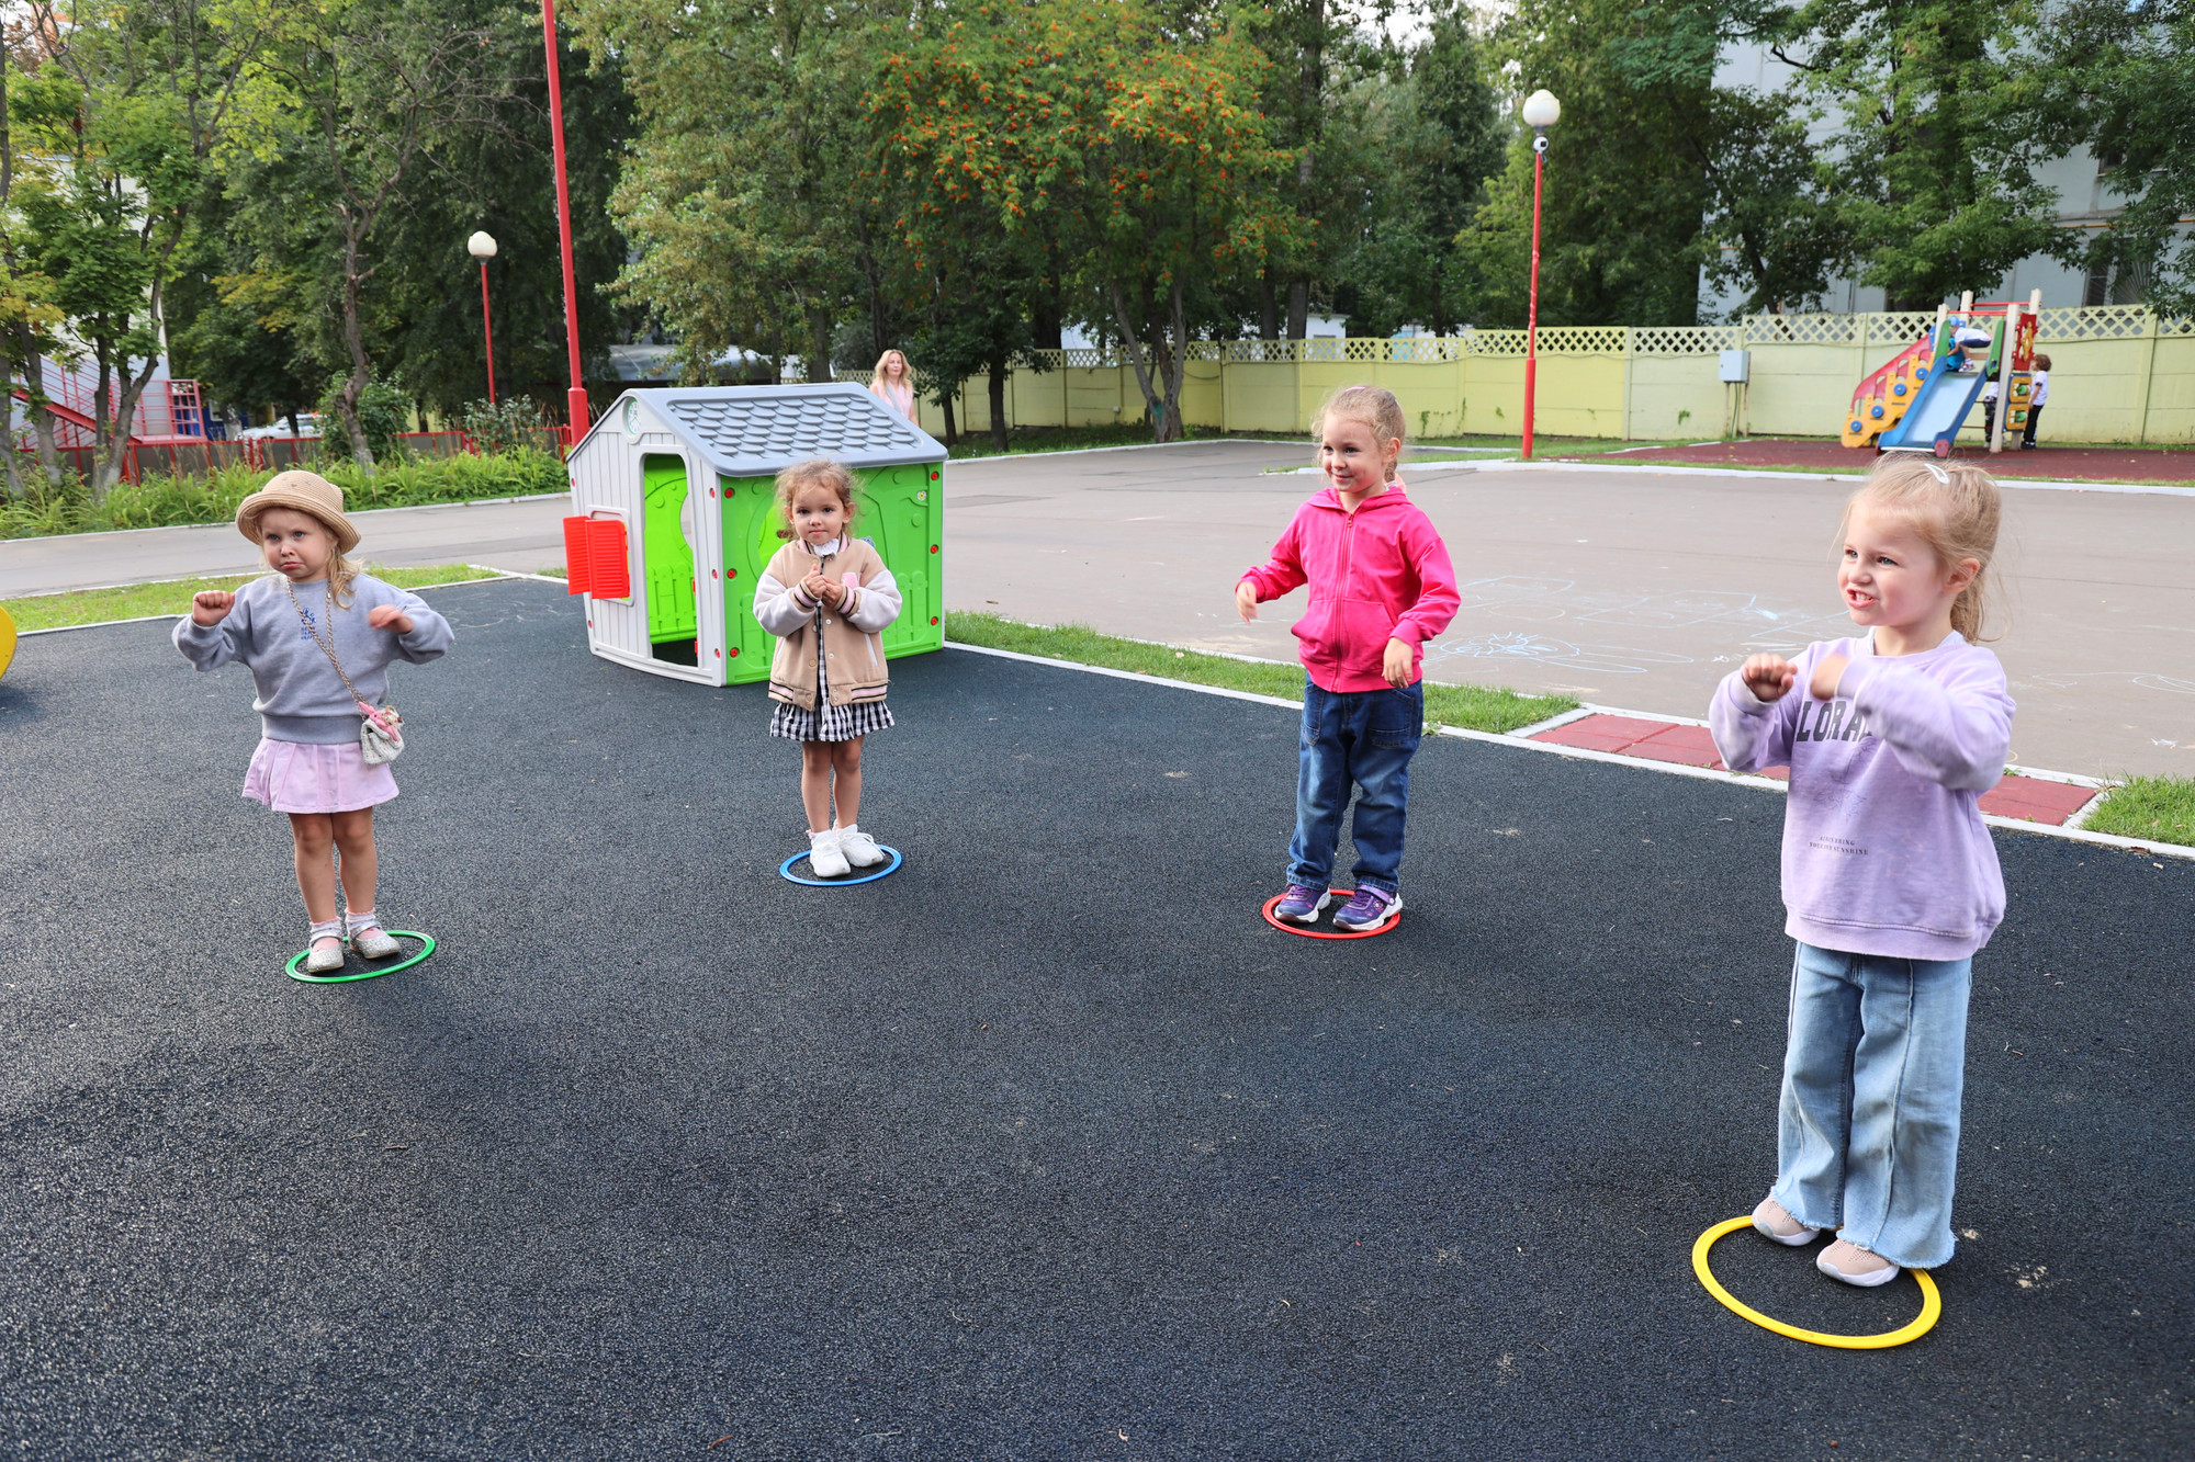
<path fill-rule="evenodd" d="M 946 639 L 986 650 L 1014 650 L 1016 654 L 1040 654 L 1051 661 L 1073 661 L 1076 665 L 1100 665 L 1104 670 L 1130 670 L 1168 681 L 1190 681 L 1192 685 L 1216 685 L 1220 689 L 1251 691 L 1256 696 L 1277 696 L 1282 700 L 1304 698 L 1304 672 L 1297 665 L 1275 661 L 1236 661 L 1225 654 L 1203 654 L 1198 650 L 1174 650 L 1172 645 L 1148 645 L 1139 639 L 1100 634 L 1089 626 L 1062 623 L 1014 623 L 999 615 L 946 612 Z M 1488 685 L 1440 685 L 1425 683 L 1425 720 L 1438 727 L 1464 731 L 1515 731 L 1536 720 L 1576 711 L 1578 702 L 1567 696 L 1519 696 L 1517 691 Z"/>

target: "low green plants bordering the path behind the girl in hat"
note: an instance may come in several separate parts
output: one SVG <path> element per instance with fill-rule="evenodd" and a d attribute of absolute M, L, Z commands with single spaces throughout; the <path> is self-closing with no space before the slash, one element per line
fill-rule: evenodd
<path fill-rule="evenodd" d="M 320 476 L 342 487 L 349 511 L 367 507 L 415 507 L 419 503 L 472 503 L 476 498 L 522 498 L 564 492 L 564 463 L 549 452 L 505 452 L 500 457 L 446 457 L 419 463 L 384 463 L 371 476 L 345 459 L 327 459 Z M 101 533 L 108 529 L 173 527 L 182 522 L 228 522 L 237 503 L 266 485 L 272 472 L 224 468 L 211 476 L 147 476 L 121 483 L 92 507 L 83 487 L 31 490 L 31 496 L 0 503 L 0 538 L 48 533 Z M 29 485 L 29 483 L 26 483 Z"/>

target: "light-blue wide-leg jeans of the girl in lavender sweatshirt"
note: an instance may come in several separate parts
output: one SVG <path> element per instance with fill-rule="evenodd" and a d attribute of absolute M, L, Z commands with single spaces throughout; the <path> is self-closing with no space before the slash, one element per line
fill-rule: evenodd
<path fill-rule="evenodd" d="M 1934 1269 L 1951 1258 L 1973 959 L 1800 944 L 1776 1135 L 1785 1212 Z"/>

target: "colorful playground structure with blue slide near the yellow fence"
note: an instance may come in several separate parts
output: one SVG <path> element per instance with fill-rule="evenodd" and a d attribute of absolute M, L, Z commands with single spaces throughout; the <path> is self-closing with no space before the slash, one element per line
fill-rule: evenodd
<path fill-rule="evenodd" d="M 1997 395 L 2008 408 L 1997 415 L 1989 450 L 2002 452 L 2004 437 L 2028 424 L 2028 397 L 2035 391 L 2035 325 L 2041 305 L 2041 290 L 2026 303 L 1975 305 L 1973 294 L 1965 294 L 1958 310 L 1940 305 L 1934 329 L 1853 391 L 1853 406 L 1844 415 L 1844 446 L 1949 457 L 1967 415 L 1995 380 Z M 1956 345 L 1965 329 L 1989 331 L 1989 358 L 1980 367 Z"/>

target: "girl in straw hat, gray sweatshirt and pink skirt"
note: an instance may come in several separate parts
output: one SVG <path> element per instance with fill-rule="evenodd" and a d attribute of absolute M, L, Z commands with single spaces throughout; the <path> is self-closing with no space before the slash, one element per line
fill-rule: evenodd
<path fill-rule="evenodd" d="M 373 808 L 395 797 L 397 784 L 386 762 L 367 760 L 360 722 L 386 696 L 391 661 L 441 659 L 450 621 L 345 558 L 358 529 L 342 516 L 342 490 L 314 472 L 279 472 L 244 498 L 237 531 L 261 547 L 272 573 L 237 593 L 195 595 L 189 619 L 176 626 L 176 648 L 200 670 L 250 665 L 261 738 L 244 795 L 290 814 L 309 922 L 305 970 L 340 970 L 345 942 L 367 959 L 386 959 L 397 942 L 373 911 Z"/>

